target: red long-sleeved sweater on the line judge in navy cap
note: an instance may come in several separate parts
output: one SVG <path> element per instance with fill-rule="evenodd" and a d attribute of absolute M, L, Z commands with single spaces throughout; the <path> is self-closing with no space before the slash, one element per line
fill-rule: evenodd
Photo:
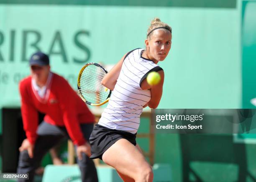
<path fill-rule="evenodd" d="M 46 114 L 45 122 L 65 126 L 74 144 L 84 144 L 85 139 L 79 124 L 93 123 L 95 118 L 69 83 L 63 77 L 53 74 L 46 91 L 48 98 L 41 99 L 33 90 L 31 80 L 29 76 L 20 81 L 21 114 L 29 142 L 34 144 L 36 141 L 40 111 Z"/>

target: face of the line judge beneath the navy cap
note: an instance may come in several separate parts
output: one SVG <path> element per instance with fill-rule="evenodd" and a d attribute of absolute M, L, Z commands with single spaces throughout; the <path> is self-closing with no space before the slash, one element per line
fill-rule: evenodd
<path fill-rule="evenodd" d="M 46 66 L 32 65 L 30 68 L 31 68 L 31 75 L 37 83 L 45 83 L 47 81 L 47 78 L 50 72 L 49 65 L 46 65 Z"/>

